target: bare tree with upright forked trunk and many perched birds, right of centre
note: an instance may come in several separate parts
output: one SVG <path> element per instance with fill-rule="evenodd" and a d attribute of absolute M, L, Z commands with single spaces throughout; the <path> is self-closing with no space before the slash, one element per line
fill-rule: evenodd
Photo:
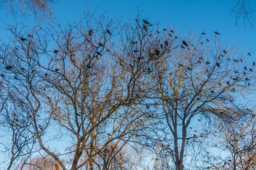
<path fill-rule="evenodd" d="M 190 151 L 200 148 L 212 115 L 226 121 L 241 116 L 243 94 L 255 85 L 255 63 L 247 61 L 249 53 L 239 52 L 236 44 L 221 42 L 217 31 L 212 37 L 187 32 L 186 36 L 176 30 L 159 34 L 156 48 L 165 50 L 171 45 L 174 49 L 150 68 L 148 82 L 153 91 L 151 105 L 159 119 L 155 129 L 165 128 L 157 133 L 162 147 L 158 154 L 170 156 L 176 170 L 184 169 L 187 154 L 200 152 L 188 153 L 186 146 Z"/>

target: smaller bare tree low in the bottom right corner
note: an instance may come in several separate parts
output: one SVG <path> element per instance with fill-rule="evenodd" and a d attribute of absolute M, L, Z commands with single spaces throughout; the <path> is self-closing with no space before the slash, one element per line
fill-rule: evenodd
<path fill-rule="evenodd" d="M 227 123 L 217 119 L 218 131 L 212 134 L 215 147 L 227 153 L 226 157 L 207 154 L 205 163 L 213 170 L 254 170 L 256 167 L 256 120 L 255 113 L 247 108 L 249 115 L 236 122 Z"/>

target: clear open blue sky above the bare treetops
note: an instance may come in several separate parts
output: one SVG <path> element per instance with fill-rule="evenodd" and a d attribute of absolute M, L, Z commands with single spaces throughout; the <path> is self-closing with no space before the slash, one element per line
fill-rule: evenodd
<path fill-rule="evenodd" d="M 142 10 L 141 18 L 148 18 L 151 23 L 160 23 L 163 26 L 169 22 L 183 33 L 186 26 L 194 28 L 201 34 L 207 27 L 206 33 L 219 30 L 224 40 L 233 34 L 232 40 L 239 40 L 245 51 L 253 53 L 256 50 L 256 21 L 244 30 L 243 21 L 239 20 L 239 26 L 235 26 L 234 15 L 230 16 L 235 0 L 60 0 L 53 6 L 53 13 L 59 23 L 78 21 L 83 17 L 83 12 L 95 10 L 96 14 L 103 14 L 109 18 L 119 19 L 125 22 L 137 14 L 137 8 Z M 256 0 L 250 1 L 252 8 L 256 9 Z M 0 21 L 6 24 L 14 23 L 12 16 L 6 16 L 6 10 L 0 11 Z M 256 13 L 253 15 L 256 17 Z M 33 20 L 31 18 L 31 20 Z M 29 21 L 29 23 L 32 23 Z M 6 40 L 8 32 L 3 30 L 0 23 L 0 39 Z M 254 53 L 251 57 L 256 56 Z"/>

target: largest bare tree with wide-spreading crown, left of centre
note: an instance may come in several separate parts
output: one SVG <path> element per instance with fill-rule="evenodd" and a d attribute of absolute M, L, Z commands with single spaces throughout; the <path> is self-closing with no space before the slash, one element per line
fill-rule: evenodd
<path fill-rule="evenodd" d="M 4 94 L 12 90 L 9 105 L 20 99 L 29 108 L 17 115 L 30 123 L 21 127 L 63 170 L 85 165 L 93 170 L 93 158 L 113 141 L 140 142 L 151 123 L 141 111 L 148 68 L 164 51 L 154 48 L 157 36 L 150 35 L 148 24 L 119 22 L 86 14 L 67 26 L 17 24 L 22 28 L 10 26 L 13 36 L 2 42 L 1 81 Z M 68 141 L 65 151 L 60 141 Z M 116 159 L 119 148 L 107 152 L 109 158 Z"/>

